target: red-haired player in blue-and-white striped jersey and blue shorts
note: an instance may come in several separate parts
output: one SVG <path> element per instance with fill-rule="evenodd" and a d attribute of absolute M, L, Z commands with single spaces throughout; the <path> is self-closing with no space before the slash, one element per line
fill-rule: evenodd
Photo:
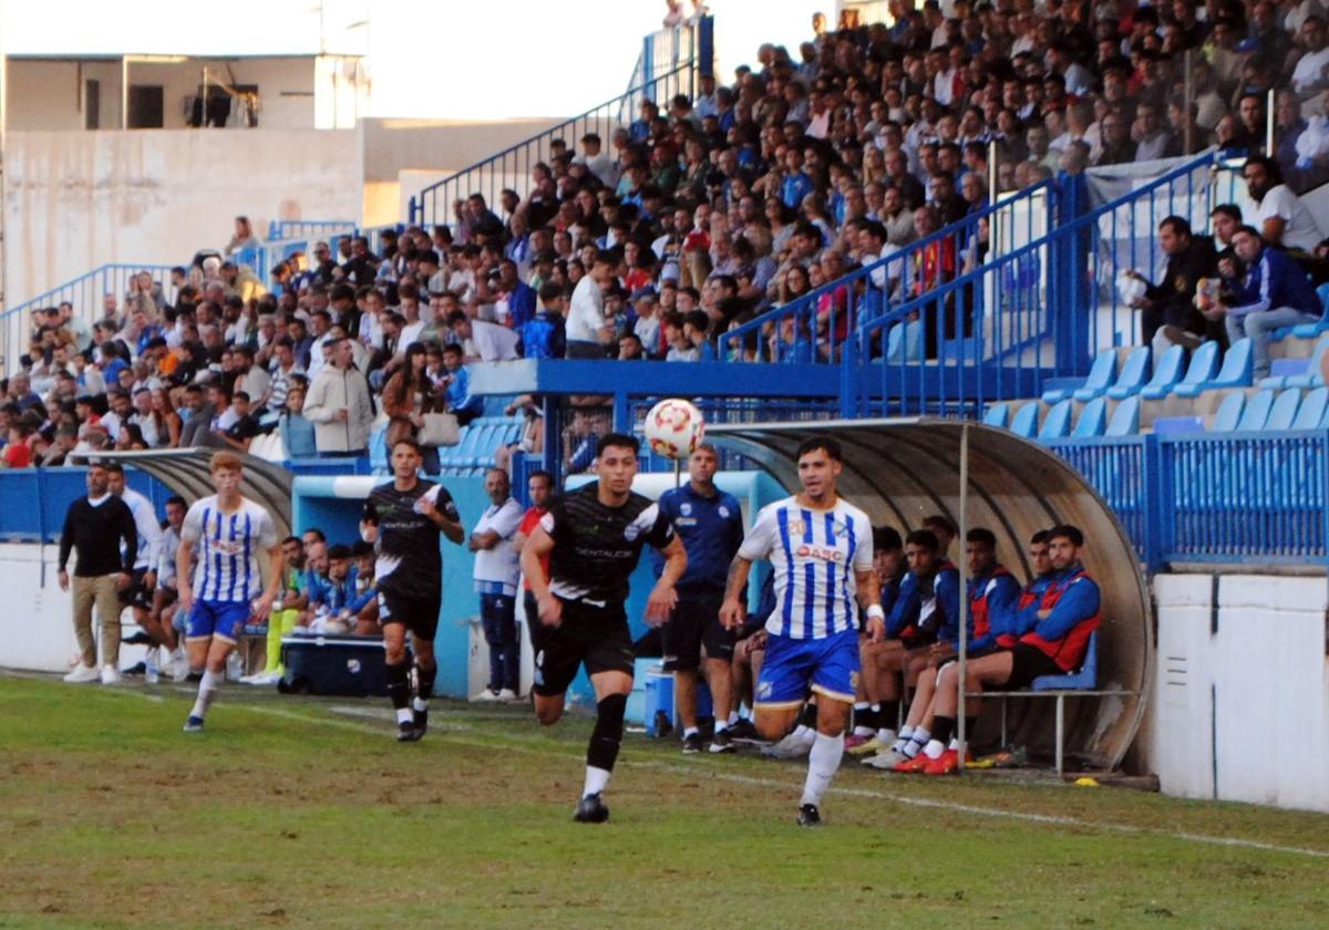
<path fill-rule="evenodd" d="M 203 717 L 225 680 L 226 656 L 235 648 L 241 627 L 250 616 L 271 612 L 282 581 L 283 555 L 276 527 L 266 508 L 241 494 L 241 457 L 218 452 L 209 470 L 217 493 L 195 501 L 185 514 L 175 549 L 175 577 L 194 579 L 193 585 L 179 586 L 179 610 L 189 616 L 185 631 L 189 666 L 203 667 L 198 700 L 185 721 L 186 733 L 202 732 Z M 191 575 L 195 547 L 198 571 Z M 267 550 L 266 586 L 258 565 L 259 549 Z"/>

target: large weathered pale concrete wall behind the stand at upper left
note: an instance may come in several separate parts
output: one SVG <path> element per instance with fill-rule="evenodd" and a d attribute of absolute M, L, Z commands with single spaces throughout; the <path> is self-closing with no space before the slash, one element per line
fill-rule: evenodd
<path fill-rule="evenodd" d="M 9 133 L 5 291 L 19 303 L 98 264 L 182 263 L 231 221 L 359 214 L 351 130 Z"/>

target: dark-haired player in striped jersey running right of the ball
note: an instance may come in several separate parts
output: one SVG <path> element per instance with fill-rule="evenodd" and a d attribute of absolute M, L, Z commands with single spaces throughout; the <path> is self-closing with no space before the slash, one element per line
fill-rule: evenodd
<path fill-rule="evenodd" d="M 817 805 L 844 756 L 859 678 L 859 624 L 855 598 L 864 607 L 869 639 L 885 634 L 872 570 L 872 523 L 836 493 L 840 444 L 811 438 L 799 446 L 803 490 L 762 509 L 730 566 L 720 620 L 743 623 L 742 602 L 752 562 L 769 559 L 776 608 L 767 620 L 766 660 L 758 678 L 756 728 L 779 739 L 793 724 L 808 686 L 817 695 L 817 733 L 808 753 L 808 777 L 799 825 L 821 822 Z"/>

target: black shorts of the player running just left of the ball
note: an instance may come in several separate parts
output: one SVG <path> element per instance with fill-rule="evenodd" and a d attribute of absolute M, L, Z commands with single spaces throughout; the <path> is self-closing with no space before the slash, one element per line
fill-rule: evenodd
<path fill-rule="evenodd" d="M 560 602 L 563 619 L 557 627 L 546 627 L 538 620 L 530 624 L 530 646 L 536 651 L 533 691 L 542 698 L 563 694 L 582 663 L 587 675 L 631 675 L 635 668 L 633 636 L 622 606 L 589 607 L 562 598 Z"/>

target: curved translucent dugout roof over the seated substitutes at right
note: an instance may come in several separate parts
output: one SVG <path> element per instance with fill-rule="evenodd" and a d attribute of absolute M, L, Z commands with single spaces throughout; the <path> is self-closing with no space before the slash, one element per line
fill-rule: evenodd
<path fill-rule="evenodd" d="M 1152 678 L 1150 598 L 1139 558 L 1116 517 L 1092 488 L 1057 456 L 1014 433 L 956 420 L 841 420 L 831 422 L 716 425 L 707 434 L 760 464 L 781 485 L 797 490 L 796 450 L 811 436 L 832 436 L 844 449 L 841 494 L 873 525 L 916 529 L 933 513 L 960 523 L 961 437 L 969 433 L 968 525 L 997 535 L 997 555 L 1022 582 L 1029 578 L 1027 542 L 1041 529 L 1074 523 L 1084 531 L 1084 565 L 1099 583 L 1100 690 L 1128 698 L 1067 703 L 1066 749 L 1091 765 L 1115 768 L 1130 748 Z M 964 555 L 962 543 L 952 557 Z M 993 715 L 987 701 L 985 716 Z M 1022 707 L 1025 705 L 1025 707 Z M 1049 700 L 1010 704 L 1013 741 L 1051 755 Z M 979 736 L 995 717 L 979 724 Z"/>

